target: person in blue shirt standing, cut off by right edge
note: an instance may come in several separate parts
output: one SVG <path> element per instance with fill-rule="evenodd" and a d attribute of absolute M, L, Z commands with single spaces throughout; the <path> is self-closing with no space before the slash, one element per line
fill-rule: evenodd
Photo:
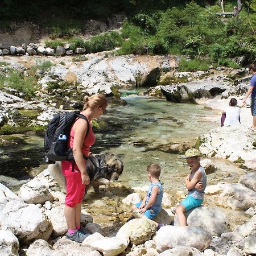
<path fill-rule="evenodd" d="M 249 71 L 253 74 L 250 81 L 250 87 L 246 93 L 243 102 L 246 102 L 247 98 L 251 94 L 251 115 L 253 115 L 253 129 L 256 129 L 256 64 L 251 64 Z"/>

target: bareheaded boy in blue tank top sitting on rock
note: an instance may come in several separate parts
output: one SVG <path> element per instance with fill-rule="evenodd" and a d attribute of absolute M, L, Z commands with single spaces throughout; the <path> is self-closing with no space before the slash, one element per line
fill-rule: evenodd
<path fill-rule="evenodd" d="M 139 213 L 143 214 L 143 217 L 150 220 L 153 220 L 162 209 L 163 187 L 159 181 L 160 174 L 161 167 L 159 164 L 152 163 L 147 167 L 147 178 L 151 184 L 143 201 L 131 207 L 131 209 L 138 210 Z M 158 229 L 162 226 L 157 222 L 155 222 L 155 225 Z"/>

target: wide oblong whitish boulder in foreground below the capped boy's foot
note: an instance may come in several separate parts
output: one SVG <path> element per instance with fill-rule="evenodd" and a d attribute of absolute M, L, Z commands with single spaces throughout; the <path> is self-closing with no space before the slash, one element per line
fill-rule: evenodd
<path fill-rule="evenodd" d="M 154 241 L 160 253 L 176 246 L 191 246 L 203 251 L 210 245 L 212 236 L 199 226 L 163 226 L 156 233 Z"/>

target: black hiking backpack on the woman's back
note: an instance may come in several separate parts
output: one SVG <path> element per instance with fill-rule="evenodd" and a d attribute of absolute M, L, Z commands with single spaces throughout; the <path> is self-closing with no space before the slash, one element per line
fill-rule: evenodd
<path fill-rule="evenodd" d="M 68 137 L 71 126 L 77 117 L 87 122 L 87 135 L 89 132 L 89 121 L 85 115 L 80 114 L 78 111 L 56 114 L 51 121 L 49 121 L 44 137 L 44 151 L 46 152 L 44 159 L 46 163 L 63 160 L 75 161 L 72 148 L 68 148 Z M 84 156 L 84 158 L 86 159 L 86 156 Z"/>

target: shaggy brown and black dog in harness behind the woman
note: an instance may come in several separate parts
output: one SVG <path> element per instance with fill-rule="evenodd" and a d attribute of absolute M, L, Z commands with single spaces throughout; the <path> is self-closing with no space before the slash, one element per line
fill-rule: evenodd
<path fill-rule="evenodd" d="M 65 177 L 61 172 L 61 162 L 49 164 L 48 170 L 60 187 L 65 189 Z M 114 154 L 92 154 L 86 160 L 86 170 L 94 191 L 99 192 L 99 186 L 105 185 L 104 190 L 108 192 L 110 180 L 118 180 L 119 175 L 122 174 L 123 162 Z"/>

